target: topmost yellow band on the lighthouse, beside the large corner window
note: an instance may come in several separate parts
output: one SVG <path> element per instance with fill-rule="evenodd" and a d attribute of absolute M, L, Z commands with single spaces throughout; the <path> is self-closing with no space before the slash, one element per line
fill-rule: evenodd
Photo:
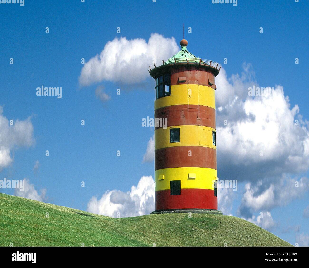
<path fill-rule="evenodd" d="M 172 85 L 171 95 L 155 100 L 155 109 L 171 105 L 203 105 L 216 108 L 215 90 L 195 84 Z"/>

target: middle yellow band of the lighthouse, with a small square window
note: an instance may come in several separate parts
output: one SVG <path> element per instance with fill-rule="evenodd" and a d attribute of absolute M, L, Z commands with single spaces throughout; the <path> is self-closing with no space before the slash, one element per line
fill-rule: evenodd
<path fill-rule="evenodd" d="M 171 128 L 180 128 L 180 142 L 170 143 Z M 217 149 L 213 145 L 213 131 L 215 131 L 214 128 L 197 125 L 158 128 L 155 130 L 155 150 L 174 146 L 202 146 Z"/>

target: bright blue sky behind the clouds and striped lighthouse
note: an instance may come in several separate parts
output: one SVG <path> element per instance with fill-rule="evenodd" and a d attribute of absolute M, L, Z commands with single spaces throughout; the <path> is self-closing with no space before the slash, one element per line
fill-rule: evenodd
<path fill-rule="evenodd" d="M 24 134 L 28 135 L 27 139 L 23 139 L 23 134 L 16 135 L 16 139 L 20 139 L 18 142 L 2 135 L 2 139 L 6 140 L 0 140 L 0 147 L 9 148 L 12 161 L 0 166 L 0 176 L 2 179 L 27 178 L 38 194 L 41 189 L 46 189 L 41 200 L 82 210 L 89 210 L 88 203 L 92 197 L 99 200 L 106 191 L 114 189 L 132 193 L 132 185 L 136 186 L 143 176 L 154 177 L 154 162 L 143 162 L 154 129 L 141 126 L 142 118 L 153 117 L 154 114 L 154 82 L 149 75 L 142 75 L 141 78 L 136 74 L 136 83 L 125 83 L 129 77 L 125 71 L 117 69 L 120 78 L 105 75 L 99 82 L 83 86 L 79 80 L 84 67 L 81 58 L 87 64 L 115 38 L 120 40 L 122 37 L 128 41 L 144 39 L 147 43 L 152 33 L 163 35 L 164 42 L 171 44 L 172 52 L 175 42 L 180 48 L 184 23 L 188 50 L 203 59 L 217 61 L 225 70 L 220 74 L 222 78 L 218 78 L 221 81 L 217 83 L 218 96 L 222 94 L 220 91 L 226 92 L 226 95 L 233 94 L 229 93 L 228 88 L 218 86 L 229 83 L 244 103 L 246 88 L 254 81 L 262 87 L 283 88 L 284 97 L 288 96 L 287 103 L 290 104 L 290 108 L 284 111 L 291 111 L 298 105 L 299 112 L 294 119 L 300 120 L 298 116 L 302 115 L 303 130 L 297 132 L 297 137 L 292 133 L 284 138 L 287 144 L 289 139 L 293 140 L 293 144 L 299 140 L 299 147 L 295 145 L 294 150 L 304 150 L 303 154 L 297 155 L 301 160 L 295 162 L 303 161 L 301 166 L 294 162 L 280 164 L 286 154 L 284 148 L 289 147 L 289 144 L 285 146 L 282 143 L 279 144 L 284 151 L 282 156 L 279 155 L 282 150 L 278 145 L 275 147 L 278 155 L 269 155 L 269 160 L 262 163 L 265 169 L 259 176 L 257 170 L 261 170 L 261 166 L 254 160 L 252 166 L 235 164 L 229 161 L 232 155 L 228 150 L 222 148 L 220 155 L 218 146 L 218 177 L 223 175 L 224 179 L 235 179 L 233 176 L 241 176 L 239 189 L 231 197 L 232 207 L 228 214 L 250 218 L 259 215 L 260 211 L 269 211 L 272 224 L 262 227 L 292 244 L 299 242 L 308 246 L 309 218 L 303 216 L 309 205 L 306 188 L 308 156 L 303 146 L 308 133 L 308 122 L 305 120 L 309 120 L 308 14 L 305 1 L 239 0 L 237 6 L 212 4 L 211 0 L 117 1 L 117 5 L 114 1 L 25 0 L 24 6 L 0 4 L 2 117 L 25 121 L 29 128 L 33 127 L 33 132 Z M 45 33 L 46 27 L 49 27 L 49 33 Z M 116 32 L 117 27 L 120 27 L 120 33 Z M 188 33 L 188 27 L 192 28 L 192 33 Z M 263 27 L 263 33 L 259 33 L 260 27 Z M 138 53 L 136 51 L 140 47 L 133 47 L 133 44 L 129 42 L 121 48 Z M 164 47 L 159 41 L 155 46 L 159 50 Z M 104 53 L 113 52 L 106 50 Z M 122 55 L 126 56 L 125 53 Z M 165 56 L 164 53 L 162 55 Z M 163 59 L 173 54 L 167 55 Z M 11 58 L 14 64 L 10 64 Z M 162 59 L 160 56 L 158 58 L 157 62 L 160 62 Z M 224 58 L 227 58 L 227 64 L 223 64 Z M 295 58 L 299 59 L 299 64 L 295 64 Z M 152 62 L 144 60 L 142 64 L 145 64 L 147 72 Z M 248 69 L 244 71 L 246 67 Z M 235 77 L 236 74 L 239 78 Z M 132 75 L 134 77 L 134 70 Z M 62 87 L 62 98 L 36 96 L 36 88 L 42 85 Z M 104 92 L 109 96 L 105 101 L 95 95 L 98 86 L 104 87 L 99 94 Z M 245 94 L 240 92 L 242 87 Z M 120 95 L 116 94 L 118 88 Z M 279 103 L 276 100 L 273 99 Z M 217 98 L 217 109 L 223 107 L 221 117 L 217 112 L 217 132 L 222 127 L 220 120 L 224 116 L 235 124 L 239 120 L 231 110 L 224 108 L 229 101 L 229 97 Z M 269 104 L 259 106 L 265 108 L 261 112 L 268 111 L 266 109 L 272 111 L 266 105 Z M 278 104 L 277 110 L 281 108 Z M 282 118 L 284 116 L 281 115 L 281 121 L 274 122 L 278 129 L 284 130 L 285 120 Z M 81 125 L 81 120 L 85 120 L 85 126 Z M 27 126 L 25 129 L 28 129 Z M 217 135 L 220 143 L 220 133 Z M 222 134 L 221 137 L 223 140 L 226 136 Z M 49 150 L 49 157 L 45 156 L 46 150 Z M 121 156 L 116 155 L 117 150 L 120 150 Z M 250 156 L 248 158 L 251 159 Z M 39 168 L 34 172 L 37 160 Z M 289 164 L 294 168 L 290 168 Z M 226 166 L 228 168 L 225 169 Z M 284 166 L 289 168 L 285 170 Z M 251 169 L 253 175 L 250 177 L 246 173 L 250 173 Z M 275 169 L 277 171 L 273 173 Z M 245 170 L 245 174 L 241 170 Z M 302 193 L 296 192 L 289 199 L 283 198 L 284 194 L 277 189 L 279 192 L 275 193 L 274 199 L 288 200 L 285 204 L 265 209 L 263 205 L 246 207 L 247 212 L 251 211 L 251 216 L 247 212 L 239 212 L 244 205 L 242 200 L 247 183 L 257 187 L 253 195 L 258 196 L 270 187 L 272 180 L 275 181 L 275 188 L 282 187 L 280 183 L 284 181 L 284 176 L 297 181 L 304 177 Z M 258 180 L 262 181 L 265 189 L 257 184 Z M 81 181 L 85 181 L 85 187 L 81 187 Z M 1 189 L 0 192 L 15 193 L 14 189 Z"/>

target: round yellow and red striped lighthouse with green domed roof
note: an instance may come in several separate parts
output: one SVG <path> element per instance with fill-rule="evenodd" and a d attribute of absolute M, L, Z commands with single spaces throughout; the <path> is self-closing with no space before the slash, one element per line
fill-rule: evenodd
<path fill-rule="evenodd" d="M 181 50 L 149 67 L 155 79 L 155 211 L 218 211 L 215 76 L 219 64 Z"/>

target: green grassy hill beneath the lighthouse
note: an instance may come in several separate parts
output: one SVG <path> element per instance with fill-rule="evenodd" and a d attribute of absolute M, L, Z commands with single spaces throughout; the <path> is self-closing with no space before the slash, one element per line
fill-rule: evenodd
<path fill-rule="evenodd" d="M 46 212 L 49 217 L 46 218 Z M 243 219 L 173 213 L 118 218 L 0 193 L 0 246 L 292 246 Z"/>

